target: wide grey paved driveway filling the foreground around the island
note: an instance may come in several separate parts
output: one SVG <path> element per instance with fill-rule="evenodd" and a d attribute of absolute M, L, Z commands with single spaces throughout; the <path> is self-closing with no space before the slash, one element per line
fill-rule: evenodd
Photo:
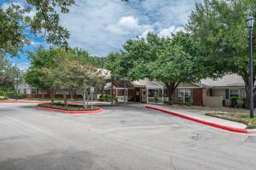
<path fill-rule="evenodd" d="M 136 106 L 96 115 L 0 103 L 0 169 L 255 169 L 256 136 Z"/>

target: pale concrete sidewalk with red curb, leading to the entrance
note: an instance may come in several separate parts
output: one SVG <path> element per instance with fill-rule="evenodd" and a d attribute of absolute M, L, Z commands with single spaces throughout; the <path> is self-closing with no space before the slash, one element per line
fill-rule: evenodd
<path fill-rule="evenodd" d="M 164 107 L 164 106 L 158 106 L 158 105 L 151 105 L 151 104 L 147 104 L 148 108 L 149 109 L 160 109 L 159 111 L 170 111 L 174 114 L 172 115 L 175 115 L 175 113 L 177 113 L 176 116 L 178 117 L 182 117 L 182 118 L 186 118 L 186 119 L 189 119 L 189 120 L 192 120 L 194 122 L 199 122 L 199 123 L 202 123 L 202 124 L 206 124 L 206 125 L 211 125 L 211 126 L 214 126 L 214 127 L 218 127 L 220 129 L 225 129 L 225 127 L 227 127 L 227 131 L 228 128 L 230 129 L 246 129 L 246 125 L 245 124 L 241 124 L 241 123 L 238 123 L 238 122 L 232 122 L 232 121 L 229 121 L 229 120 L 224 120 L 224 119 L 221 119 L 221 118 L 214 118 L 214 117 L 209 117 L 209 116 L 205 116 L 204 115 L 204 112 L 203 111 L 188 111 L 188 110 L 179 110 L 179 109 L 173 109 L 173 108 L 168 108 L 168 107 Z M 146 106 L 146 107 L 147 107 Z M 154 110 L 156 110 L 154 109 Z M 197 113 L 196 113 L 197 112 Z M 198 121 L 196 121 L 198 120 Z M 215 126 L 217 125 L 217 126 Z M 222 128 L 224 127 L 224 128 Z M 235 132 L 235 131 L 234 131 Z"/>

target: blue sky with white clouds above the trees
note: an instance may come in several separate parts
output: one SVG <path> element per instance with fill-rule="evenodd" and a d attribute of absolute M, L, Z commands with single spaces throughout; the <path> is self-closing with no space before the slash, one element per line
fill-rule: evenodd
<path fill-rule="evenodd" d="M 0 0 L 1 8 L 10 3 L 23 6 L 25 0 Z M 60 24 L 70 32 L 68 43 L 100 57 L 121 50 L 127 39 L 145 37 L 148 31 L 168 37 L 183 30 L 195 9 L 195 0 L 77 0 L 76 4 L 68 14 L 60 15 Z M 33 17 L 35 11 L 29 15 Z M 35 50 L 38 45 L 47 48 L 44 38 L 31 35 L 29 30 L 26 34 L 31 45 L 25 46 L 25 51 Z M 21 69 L 30 65 L 26 53 L 10 60 Z"/>

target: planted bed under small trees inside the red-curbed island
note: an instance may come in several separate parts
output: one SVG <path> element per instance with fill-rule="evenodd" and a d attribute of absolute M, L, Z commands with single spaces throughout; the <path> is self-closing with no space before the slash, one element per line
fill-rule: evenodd
<path fill-rule="evenodd" d="M 92 108 L 83 108 L 81 105 L 76 105 L 76 104 L 68 104 L 68 106 L 65 106 L 63 103 L 40 103 L 37 105 L 38 107 L 42 108 L 51 108 L 55 110 L 64 110 L 64 111 L 96 111 L 100 110 L 99 107 L 93 106 Z"/>

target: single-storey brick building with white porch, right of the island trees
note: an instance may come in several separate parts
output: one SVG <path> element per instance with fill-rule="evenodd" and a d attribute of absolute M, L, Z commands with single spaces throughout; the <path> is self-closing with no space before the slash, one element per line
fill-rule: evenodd
<path fill-rule="evenodd" d="M 111 94 L 111 83 L 107 83 L 104 92 Z M 147 79 L 114 80 L 113 96 L 118 97 L 120 102 L 126 99 L 141 103 L 164 103 L 169 97 L 163 82 Z M 221 107 L 230 106 L 230 97 L 233 96 L 237 97 L 239 104 L 243 104 L 243 98 L 246 96 L 245 85 L 243 78 L 237 74 L 227 74 L 216 80 L 206 78 L 198 83 L 180 83 L 172 97 L 175 103 Z"/>

